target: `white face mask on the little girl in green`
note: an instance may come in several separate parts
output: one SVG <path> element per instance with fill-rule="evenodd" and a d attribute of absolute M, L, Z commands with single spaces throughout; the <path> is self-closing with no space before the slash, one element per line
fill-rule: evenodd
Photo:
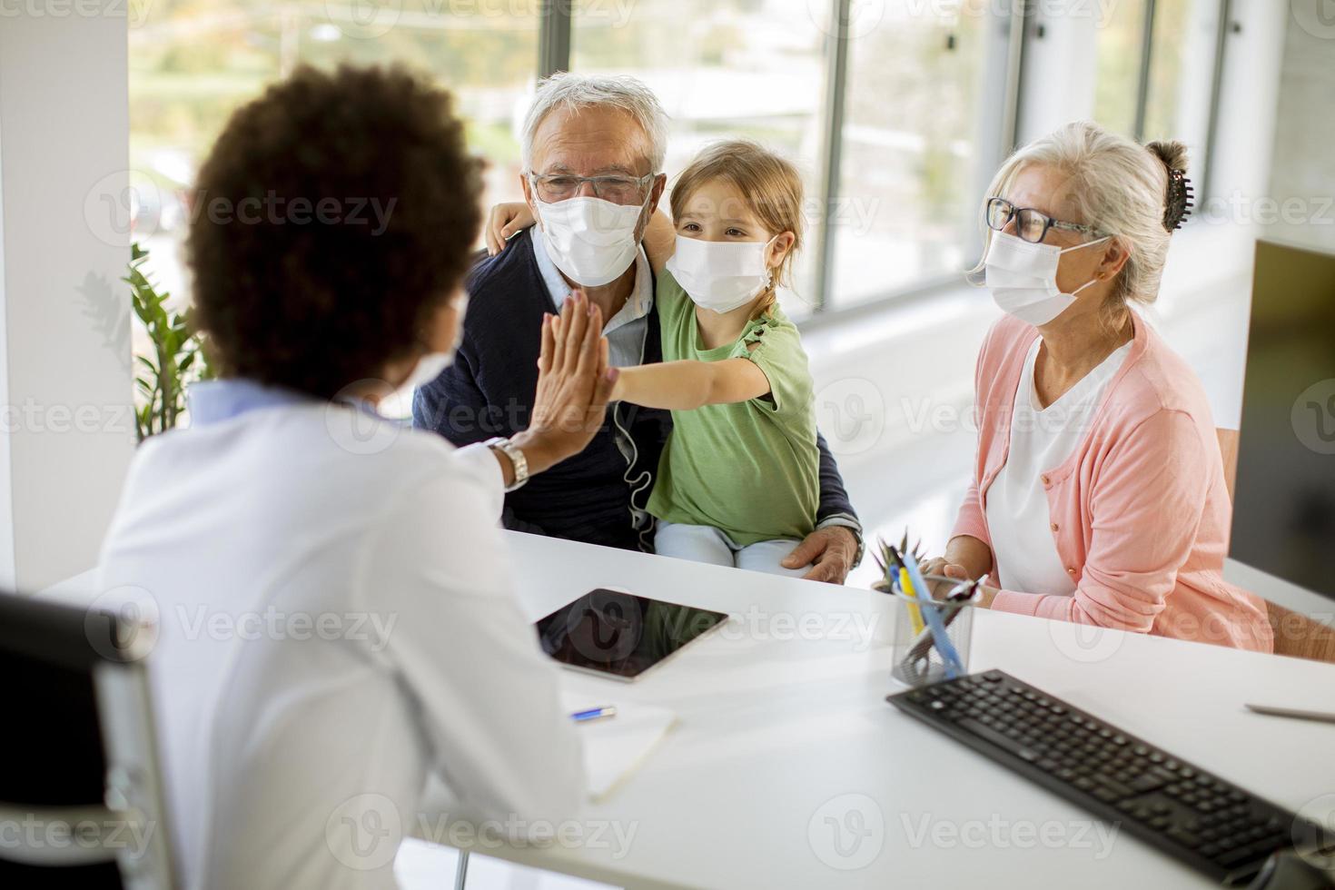
<path fill-rule="evenodd" d="M 765 258 L 773 240 L 704 242 L 678 235 L 668 271 L 696 306 L 732 312 L 769 287 L 772 275 Z"/>

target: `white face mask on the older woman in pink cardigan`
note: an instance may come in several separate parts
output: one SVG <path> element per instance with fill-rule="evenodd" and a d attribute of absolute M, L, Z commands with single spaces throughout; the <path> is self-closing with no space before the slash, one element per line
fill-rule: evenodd
<path fill-rule="evenodd" d="M 1033 244 L 1011 235 L 992 232 L 992 246 L 983 260 L 984 275 L 992 299 L 1021 322 L 1035 327 L 1053 320 L 1076 302 L 1076 294 L 1099 279 L 1091 279 L 1069 294 L 1057 287 L 1057 263 L 1067 251 L 1107 242 L 1111 235 L 1065 250 L 1056 244 Z"/>

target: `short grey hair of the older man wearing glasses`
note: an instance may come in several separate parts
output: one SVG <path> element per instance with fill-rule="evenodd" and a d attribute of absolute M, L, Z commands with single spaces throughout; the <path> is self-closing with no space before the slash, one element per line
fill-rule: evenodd
<path fill-rule="evenodd" d="M 659 173 L 668 156 L 668 115 L 658 97 L 645 84 L 629 75 L 577 75 L 561 71 L 538 84 L 538 95 L 523 119 L 519 143 L 525 169 L 533 169 L 533 136 L 542 120 L 557 108 L 577 109 L 599 105 L 625 111 L 649 139 L 651 173 Z"/>

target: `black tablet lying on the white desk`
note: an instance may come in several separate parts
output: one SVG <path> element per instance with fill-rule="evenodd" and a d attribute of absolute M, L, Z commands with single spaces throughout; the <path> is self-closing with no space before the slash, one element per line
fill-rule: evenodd
<path fill-rule="evenodd" d="M 728 619 L 599 587 L 537 624 L 542 650 L 569 667 L 634 679 Z"/>

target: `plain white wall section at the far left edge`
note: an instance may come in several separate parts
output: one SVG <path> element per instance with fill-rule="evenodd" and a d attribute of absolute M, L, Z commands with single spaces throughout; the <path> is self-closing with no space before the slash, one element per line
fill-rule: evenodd
<path fill-rule="evenodd" d="M 0 19 L 0 584 L 27 591 L 93 564 L 134 452 L 125 29 Z"/>

